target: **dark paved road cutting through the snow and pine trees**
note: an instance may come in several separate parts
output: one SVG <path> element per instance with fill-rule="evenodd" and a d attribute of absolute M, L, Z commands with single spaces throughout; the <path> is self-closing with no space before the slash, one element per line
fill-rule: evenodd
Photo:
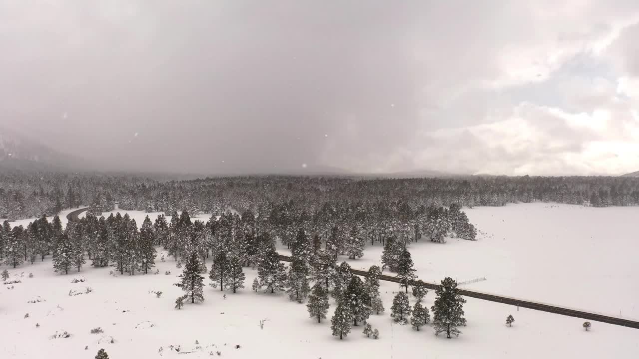
<path fill-rule="evenodd" d="M 89 208 L 81 208 L 79 210 L 72 211 L 68 215 L 66 215 L 66 218 L 68 220 L 70 220 L 70 221 L 79 220 L 78 215 L 80 215 L 80 213 L 82 213 L 82 212 L 84 212 L 84 211 L 86 211 L 88 209 Z M 284 261 L 284 262 L 290 262 L 291 261 L 291 257 L 290 256 L 284 256 L 284 255 L 280 254 L 279 257 L 280 257 L 281 261 Z M 351 269 L 351 273 L 364 277 L 364 276 L 366 276 L 367 271 Z M 397 277 L 391 277 L 390 275 L 381 275 L 380 276 L 380 280 L 385 280 L 387 282 L 399 283 L 399 279 L 397 279 Z M 437 287 L 439 287 L 438 284 L 429 283 L 429 282 L 424 282 L 424 286 L 426 288 L 428 288 L 428 289 L 436 289 Z M 466 289 L 458 289 L 458 292 L 459 292 L 459 294 L 461 294 L 463 296 L 468 296 L 470 298 L 477 298 L 477 299 L 482 299 L 482 300 L 488 300 L 490 302 L 504 303 L 504 304 L 509 304 L 509 305 L 517 305 L 518 307 L 522 307 L 522 308 L 541 310 L 542 312 L 560 314 L 562 316 L 578 317 L 578 318 L 587 319 L 587 320 L 591 320 L 591 321 L 599 321 L 599 322 L 602 322 L 602 323 L 608 323 L 608 324 L 620 325 L 620 326 L 627 326 L 629 328 L 639 329 L 639 322 L 638 321 L 631 321 L 629 319 L 604 316 L 602 314 L 596 314 L 596 313 L 591 313 L 591 312 L 583 312 L 581 310 L 558 307 L 557 305 L 530 302 L 528 300 L 521 300 L 521 299 L 511 298 L 511 297 L 507 297 L 507 296 L 498 296 L 498 295 L 495 295 L 495 294 L 481 293 L 481 292 L 476 292 L 476 291 L 468 291 Z"/>

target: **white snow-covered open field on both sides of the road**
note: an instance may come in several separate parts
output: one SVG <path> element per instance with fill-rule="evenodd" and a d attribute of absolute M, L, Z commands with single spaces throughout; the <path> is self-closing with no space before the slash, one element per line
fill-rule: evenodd
<path fill-rule="evenodd" d="M 146 213 L 128 211 L 138 225 Z M 479 241 L 450 240 L 445 245 L 413 243 L 410 250 L 420 277 L 445 275 L 487 280 L 464 287 L 532 300 L 597 310 L 624 317 L 639 316 L 636 270 L 636 219 L 639 208 L 581 208 L 556 204 L 517 204 L 466 210 L 484 234 Z M 151 215 L 151 218 L 157 216 Z M 206 220 L 208 218 L 196 218 Z M 376 263 L 381 247 L 367 247 L 353 268 Z M 342 260 L 342 259 L 341 259 Z M 633 263 L 635 266 L 633 266 Z M 250 291 L 256 272 L 238 294 L 204 289 L 204 303 L 173 309 L 181 295 L 181 270 L 157 260 L 160 274 L 109 275 L 111 268 L 82 268 L 86 282 L 72 283 L 78 273 L 58 275 L 50 260 L 13 270 L 22 283 L 0 288 L 0 358 L 93 358 L 105 348 L 111 358 L 637 358 L 639 330 L 558 316 L 468 298 L 468 326 L 458 338 L 435 336 L 427 326 L 415 332 L 392 324 L 390 305 L 396 284 L 383 282 L 387 312 L 371 316 L 380 339 L 367 339 L 362 326 L 344 340 L 330 335 L 330 321 L 318 324 L 305 305 L 284 294 Z M 4 269 L 6 267 L 2 267 Z M 171 275 L 164 275 L 170 270 Z M 29 272 L 33 278 L 29 278 Z M 206 276 L 204 283 L 208 283 Z M 93 291 L 69 296 L 72 289 Z M 149 291 L 162 291 L 157 298 Z M 38 303 L 27 303 L 40 296 Z M 430 292 L 426 305 L 435 298 Z M 411 298 L 411 303 L 414 301 Z M 335 308 L 331 300 L 329 313 Z M 29 317 L 24 317 L 29 313 Z M 512 328 L 504 319 L 512 314 Z M 266 319 L 261 329 L 259 321 Z M 330 319 L 330 315 L 329 318 Z M 36 328 L 36 323 L 40 326 Z M 153 326 L 151 326 L 151 324 Z M 104 333 L 91 334 L 100 326 Z M 137 328 L 136 328 L 137 326 Z M 56 331 L 68 338 L 51 339 Z M 114 342 L 111 343 L 111 337 Z M 194 353 L 185 353 L 196 347 Z M 240 345 L 239 349 L 235 346 Z M 88 346 L 88 349 L 84 348 Z M 180 346 L 180 353 L 169 346 Z"/>

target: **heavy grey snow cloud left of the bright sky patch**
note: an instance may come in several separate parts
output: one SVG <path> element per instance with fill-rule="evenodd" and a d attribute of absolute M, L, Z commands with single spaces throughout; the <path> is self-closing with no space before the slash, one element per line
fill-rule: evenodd
<path fill-rule="evenodd" d="M 551 1 L 0 1 L 0 121 L 110 169 L 442 167 L 415 134 L 516 105 L 489 86 L 505 49 L 626 6 L 572 26 Z"/>

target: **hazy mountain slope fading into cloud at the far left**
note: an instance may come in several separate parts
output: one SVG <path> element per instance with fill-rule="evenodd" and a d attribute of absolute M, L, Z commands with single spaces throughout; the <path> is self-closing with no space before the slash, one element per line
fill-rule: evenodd
<path fill-rule="evenodd" d="M 0 127 L 0 169 L 20 171 L 68 171 L 79 159 L 31 141 L 26 136 Z"/>

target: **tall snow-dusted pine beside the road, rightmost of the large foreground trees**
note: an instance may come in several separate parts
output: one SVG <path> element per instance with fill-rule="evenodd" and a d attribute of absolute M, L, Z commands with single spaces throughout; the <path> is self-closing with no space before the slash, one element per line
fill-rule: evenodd
<path fill-rule="evenodd" d="M 435 334 L 446 332 L 447 338 L 450 338 L 450 334 L 459 336 L 461 332 L 457 327 L 466 325 L 463 310 L 466 300 L 458 294 L 457 283 L 452 278 L 446 277 L 435 289 L 435 293 L 437 297 L 431 308 Z"/>

